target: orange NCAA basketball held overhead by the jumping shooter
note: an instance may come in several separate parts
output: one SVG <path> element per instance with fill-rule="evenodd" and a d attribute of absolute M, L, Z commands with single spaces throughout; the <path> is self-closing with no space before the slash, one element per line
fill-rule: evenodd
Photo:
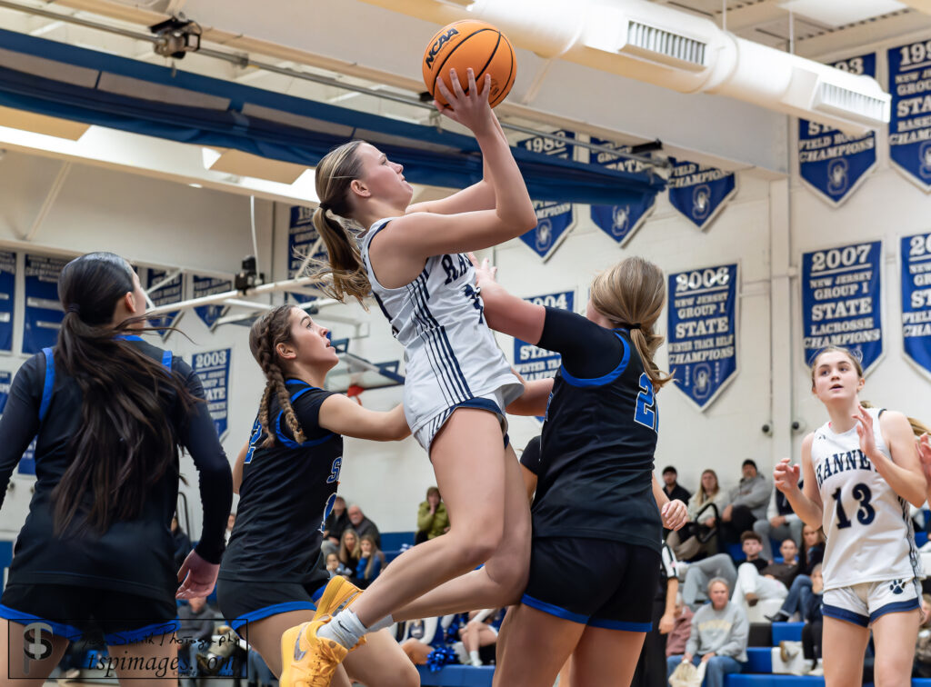
<path fill-rule="evenodd" d="M 488 95 L 489 104 L 494 107 L 505 100 L 505 96 L 514 86 L 514 77 L 518 64 L 514 59 L 514 48 L 505 34 L 484 21 L 454 21 L 440 29 L 424 51 L 424 83 L 440 104 L 446 100 L 439 90 L 434 92 L 437 77 L 443 79 L 447 88 L 452 89 L 450 70 L 455 69 L 459 83 L 468 92 L 468 75 L 471 67 L 475 72 L 475 82 L 482 88 L 485 74 L 492 74 L 492 89 Z"/>

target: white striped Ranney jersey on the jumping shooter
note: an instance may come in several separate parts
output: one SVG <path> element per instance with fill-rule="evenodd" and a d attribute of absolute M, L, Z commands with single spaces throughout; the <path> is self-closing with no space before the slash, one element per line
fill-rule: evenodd
<path fill-rule="evenodd" d="M 359 252 L 372 294 L 404 346 L 404 412 L 412 432 L 440 412 L 501 387 L 506 403 L 519 397 L 523 385 L 488 329 L 475 268 L 466 255 L 432 256 L 420 275 L 398 289 L 379 283 L 369 245 L 393 219 L 372 224 L 359 237 Z"/>

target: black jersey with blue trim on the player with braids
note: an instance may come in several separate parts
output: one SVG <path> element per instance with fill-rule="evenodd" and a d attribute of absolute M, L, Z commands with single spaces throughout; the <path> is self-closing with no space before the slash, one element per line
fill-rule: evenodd
<path fill-rule="evenodd" d="M 303 583 L 314 576 L 323 520 L 339 484 L 343 437 L 318 420 L 320 405 L 333 392 L 297 379 L 286 385 L 304 442 L 294 439 L 272 394 L 268 424 L 275 444 L 263 448 L 266 435 L 257 419 L 243 465 L 236 525 L 220 568 L 224 580 Z"/>

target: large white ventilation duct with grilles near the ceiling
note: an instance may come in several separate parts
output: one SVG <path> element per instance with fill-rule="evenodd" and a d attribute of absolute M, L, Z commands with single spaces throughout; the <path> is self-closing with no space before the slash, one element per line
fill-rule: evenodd
<path fill-rule="evenodd" d="M 541 57 L 561 57 L 683 93 L 725 95 L 850 134 L 889 121 L 890 97 L 869 76 L 762 46 L 722 31 L 711 20 L 646 0 L 407 0 L 401 5 L 409 12 L 416 8 L 414 13 L 427 20 L 489 21 Z"/>

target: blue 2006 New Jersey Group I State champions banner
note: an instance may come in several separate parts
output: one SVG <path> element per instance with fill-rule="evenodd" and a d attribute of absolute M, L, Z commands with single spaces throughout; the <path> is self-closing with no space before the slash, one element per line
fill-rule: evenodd
<path fill-rule="evenodd" d="M 669 275 L 669 370 L 704 411 L 737 371 L 737 265 Z"/>

